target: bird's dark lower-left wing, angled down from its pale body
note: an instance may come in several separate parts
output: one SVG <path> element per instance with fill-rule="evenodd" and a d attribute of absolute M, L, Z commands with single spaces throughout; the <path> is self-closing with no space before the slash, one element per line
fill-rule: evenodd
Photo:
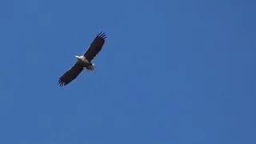
<path fill-rule="evenodd" d="M 76 62 L 69 70 L 66 71 L 65 74 L 62 75 L 61 78 L 58 78 L 59 86 L 66 86 L 70 82 L 72 82 L 78 75 L 82 72 L 83 67 Z"/>

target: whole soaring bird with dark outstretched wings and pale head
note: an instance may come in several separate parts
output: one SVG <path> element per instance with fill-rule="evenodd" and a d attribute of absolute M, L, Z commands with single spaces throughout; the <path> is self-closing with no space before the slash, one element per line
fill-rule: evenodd
<path fill-rule="evenodd" d="M 102 46 L 105 43 L 105 38 L 105 33 L 98 33 L 96 38 L 94 38 L 94 41 L 90 43 L 90 46 L 86 52 L 81 56 L 75 56 L 75 58 L 77 58 L 77 62 L 71 66 L 70 69 L 62 75 L 62 77 L 58 78 L 59 86 L 66 86 L 72 82 L 78 77 L 84 68 L 90 71 L 94 70 L 95 65 L 91 62 L 91 60 L 93 60 L 95 56 L 102 50 Z"/>

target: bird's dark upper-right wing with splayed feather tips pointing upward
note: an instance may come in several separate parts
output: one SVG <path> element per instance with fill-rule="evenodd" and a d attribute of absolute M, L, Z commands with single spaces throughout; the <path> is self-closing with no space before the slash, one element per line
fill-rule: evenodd
<path fill-rule="evenodd" d="M 100 50 L 102 50 L 102 46 L 105 43 L 105 38 L 107 38 L 106 34 L 100 32 L 97 34 L 96 38 L 94 38 L 94 41 L 91 42 L 89 48 L 83 54 L 89 62 L 94 59 Z"/>

